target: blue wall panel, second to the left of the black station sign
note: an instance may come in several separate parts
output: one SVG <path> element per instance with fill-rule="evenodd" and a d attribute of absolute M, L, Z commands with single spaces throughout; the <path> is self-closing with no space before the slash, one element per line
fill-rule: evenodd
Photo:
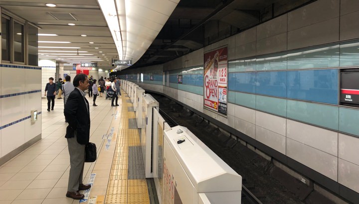
<path fill-rule="evenodd" d="M 287 72 L 257 72 L 256 94 L 287 97 Z"/>

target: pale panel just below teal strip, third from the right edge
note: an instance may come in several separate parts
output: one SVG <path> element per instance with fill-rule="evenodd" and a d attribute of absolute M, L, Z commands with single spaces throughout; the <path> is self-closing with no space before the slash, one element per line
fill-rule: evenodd
<path fill-rule="evenodd" d="M 255 124 L 258 126 L 283 136 L 286 135 L 286 119 L 283 117 L 256 110 L 255 121 Z"/>

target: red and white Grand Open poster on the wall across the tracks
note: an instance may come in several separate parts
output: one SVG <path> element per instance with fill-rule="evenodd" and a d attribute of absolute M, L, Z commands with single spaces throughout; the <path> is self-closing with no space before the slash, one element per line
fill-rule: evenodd
<path fill-rule="evenodd" d="M 227 115 L 227 47 L 204 53 L 204 107 Z"/>

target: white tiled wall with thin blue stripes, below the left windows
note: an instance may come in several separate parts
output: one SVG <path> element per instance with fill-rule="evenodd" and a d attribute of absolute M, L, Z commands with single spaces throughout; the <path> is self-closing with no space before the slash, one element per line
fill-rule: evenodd
<path fill-rule="evenodd" d="M 41 114 L 31 123 L 31 110 L 41 113 L 41 68 L 0 64 L 0 163 L 25 143 L 41 139 Z M 36 140 L 35 139 L 35 140 Z"/>

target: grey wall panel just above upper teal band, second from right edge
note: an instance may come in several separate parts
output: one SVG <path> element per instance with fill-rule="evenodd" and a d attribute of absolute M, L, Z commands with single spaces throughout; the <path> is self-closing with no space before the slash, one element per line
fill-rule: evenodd
<path fill-rule="evenodd" d="M 339 40 L 339 17 L 288 32 L 288 50 Z"/>

